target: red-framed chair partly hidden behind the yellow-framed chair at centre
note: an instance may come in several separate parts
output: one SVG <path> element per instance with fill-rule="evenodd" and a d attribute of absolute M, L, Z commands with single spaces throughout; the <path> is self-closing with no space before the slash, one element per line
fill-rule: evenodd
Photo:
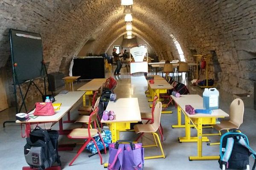
<path fill-rule="evenodd" d="M 157 103 L 157 99 L 158 99 L 158 97 L 154 96 L 154 100 L 153 100 L 153 104 L 152 104 L 152 108 L 151 108 L 151 113 L 140 113 L 140 116 L 141 116 L 142 120 L 148 120 L 145 124 L 148 124 L 149 122 L 150 122 L 150 124 L 154 123 L 154 108 L 155 108 L 155 105 Z M 159 126 L 158 130 L 159 130 L 159 133 L 161 135 L 161 141 L 163 142 L 163 127 L 162 127 L 161 123 L 160 123 L 160 126 Z M 140 136 L 136 139 L 136 141 L 138 141 L 141 136 L 143 136 L 143 133 L 140 134 Z"/>

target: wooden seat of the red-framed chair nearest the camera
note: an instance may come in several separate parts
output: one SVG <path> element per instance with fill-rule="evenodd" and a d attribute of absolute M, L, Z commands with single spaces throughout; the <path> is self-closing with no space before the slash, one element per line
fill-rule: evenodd
<path fill-rule="evenodd" d="M 90 129 L 90 136 L 91 137 L 94 137 L 96 136 L 96 134 L 98 133 L 98 130 L 97 129 Z M 77 128 L 77 129 L 74 129 L 70 132 L 69 136 L 71 138 L 88 138 L 89 137 L 89 134 L 88 134 L 88 129 L 85 129 L 85 128 Z"/>

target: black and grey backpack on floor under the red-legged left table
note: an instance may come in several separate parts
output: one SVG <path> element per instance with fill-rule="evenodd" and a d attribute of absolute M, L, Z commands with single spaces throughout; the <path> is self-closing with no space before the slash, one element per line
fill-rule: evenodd
<path fill-rule="evenodd" d="M 30 167 L 44 170 L 55 162 L 61 166 L 57 130 L 45 130 L 36 126 L 26 138 L 26 142 L 24 155 Z"/>

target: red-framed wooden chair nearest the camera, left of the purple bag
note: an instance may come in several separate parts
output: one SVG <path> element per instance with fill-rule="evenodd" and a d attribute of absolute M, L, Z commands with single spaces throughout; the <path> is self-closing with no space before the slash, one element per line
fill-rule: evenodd
<path fill-rule="evenodd" d="M 97 112 L 98 112 L 98 107 L 90 114 L 90 118 L 89 118 L 89 124 L 88 124 L 88 128 L 76 128 L 73 129 L 69 134 L 68 134 L 68 138 L 70 139 L 86 139 L 86 141 L 84 142 L 84 144 L 80 147 L 80 149 L 78 150 L 76 156 L 72 159 L 72 161 L 69 163 L 69 166 L 71 166 L 73 164 L 73 162 L 76 160 L 76 158 L 80 155 L 80 153 L 82 153 L 82 151 L 85 149 L 86 145 L 90 142 L 93 141 L 93 143 L 96 146 L 96 149 L 98 151 L 99 154 L 99 158 L 100 158 L 100 164 L 102 164 L 102 155 L 99 151 L 99 148 L 94 140 L 93 137 L 95 137 L 97 134 L 99 134 L 99 137 L 103 143 L 104 146 L 104 153 L 106 154 L 106 147 L 105 144 L 102 140 L 102 136 L 99 133 L 99 130 L 96 129 L 96 119 L 97 119 Z M 90 128 L 90 124 L 91 122 L 93 122 L 94 124 L 94 129 Z"/>

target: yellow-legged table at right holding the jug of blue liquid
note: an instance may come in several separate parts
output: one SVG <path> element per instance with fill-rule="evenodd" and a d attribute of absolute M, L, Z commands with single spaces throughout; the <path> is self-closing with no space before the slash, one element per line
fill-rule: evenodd
<path fill-rule="evenodd" d="M 180 97 L 171 96 L 177 104 L 178 125 L 181 125 L 181 112 L 185 116 L 185 136 L 179 137 L 179 142 L 197 142 L 197 156 L 189 156 L 189 160 L 218 160 L 219 156 L 202 156 L 202 142 L 209 142 L 206 136 L 203 136 L 203 125 L 215 124 L 216 118 L 228 117 L 229 115 L 221 109 L 213 110 L 212 114 L 197 113 L 190 115 L 186 112 L 185 105 L 191 105 L 195 109 L 203 109 L 203 98 L 199 95 L 180 95 Z M 191 137 L 190 122 L 197 130 L 197 136 Z"/>

